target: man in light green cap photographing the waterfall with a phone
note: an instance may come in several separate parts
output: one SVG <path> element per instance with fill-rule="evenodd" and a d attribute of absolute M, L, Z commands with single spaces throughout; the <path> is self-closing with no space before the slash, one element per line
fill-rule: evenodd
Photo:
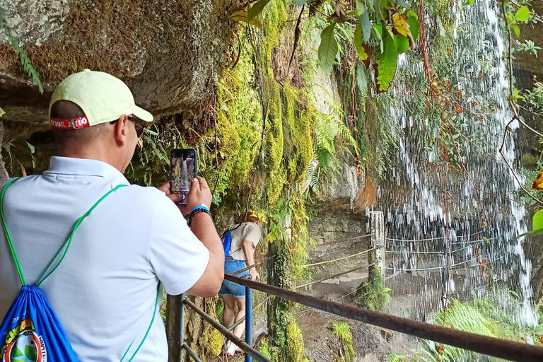
<path fill-rule="evenodd" d="M 49 117 L 58 156 L 42 175 L 13 183 L 4 199 L 6 226 L 27 284 L 35 284 L 80 216 L 107 191 L 129 185 L 122 173 L 144 122 L 153 120 L 122 81 L 88 70 L 59 84 Z M 210 206 L 206 181 L 192 181 L 186 210 L 175 205 L 180 198 L 168 185 L 115 190 L 81 223 L 66 257 L 41 284 L 79 361 L 119 362 L 131 344 L 136 349 L 153 320 L 159 282 L 173 295 L 218 292 L 224 252 L 214 223 L 200 212 L 189 228 L 181 212 Z M 20 290 L 1 233 L 0 320 Z M 163 322 L 156 317 L 134 361 L 167 360 Z"/>

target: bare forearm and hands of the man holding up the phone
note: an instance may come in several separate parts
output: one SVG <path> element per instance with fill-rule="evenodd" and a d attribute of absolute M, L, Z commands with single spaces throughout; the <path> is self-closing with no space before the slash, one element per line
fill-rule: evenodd
<path fill-rule="evenodd" d="M 159 189 L 173 202 L 180 202 L 183 199 L 182 194 L 170 194 L 169 183 L 164 184 Z M 187 195 L 187 206 L 178 205 L 178 207 L 183 214 L 186 214 L 195 206 L 201 204 L 205 204 L 208 207 L 211 206 L 211 198 L 211 192 L 206 180 L 203 177 L 198 177 L 192 180 L 190 185 L 190 192 Z M 221 238 L 217 234 L 211 217 L 203 212 L 194 215 L 191 230 L 207 250 L 209 250 L 209 262 L 207 263 L 204 274 L 187 293 L 199 297 L 216 296 L 219 289 L 221 289 L 224 279 L 224 250 Z"/>

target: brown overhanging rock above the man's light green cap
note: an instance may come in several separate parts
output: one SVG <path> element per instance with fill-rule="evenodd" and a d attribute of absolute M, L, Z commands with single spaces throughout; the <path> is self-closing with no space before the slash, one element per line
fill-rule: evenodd
<path fill-rule="evenodd" d="M 0 0 L 13 34 L 40 73 L 40 95 L 0 38 L 3 121 L 47 122 L 54 87 L 88 68 L 123 81 L 155 115 L 198 109 L 226 64 L 228 0 Z"/>

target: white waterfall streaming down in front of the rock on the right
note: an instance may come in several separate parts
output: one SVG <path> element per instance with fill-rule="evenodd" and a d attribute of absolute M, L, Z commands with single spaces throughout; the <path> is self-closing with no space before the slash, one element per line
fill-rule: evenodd
<path fill-rule="evenodd" d="M 513 115 L 501 12 L 494 0 L 477 0 L 463 9 L 456 4 L 451 11 L 450 71 L 436 73 L 448 78 L 451 93 L 465 107 L 453 111 L 453 123 L 465 135 L 455 137 L 467 175 L 460 162 L 455 169 L 452 162 L 445 165 L 438 146 L 443 139 L 439 122 L 431 115 L 409 112 L 419 95 L 399 76 L 397 102 L 390 110 L 401 124 L 397 160 L 387 171 L 389 182 L 380 187 L 378 203 L 387 208 L 385 276 L 390 276 L 389 284 L 397 281 L 397 288 L 417 296 L 407 300 L 419 311 L 412 317 L 424 320 L 428 310 L 443 308 L 446 299 L 469 300 L 493 285 L 521 291 L 524 308 L 518 321 L 537 325 L 531 263 L 524 256 L 524 240 L 516 238 L 526 231 L 525 209 L 515 202 L 522 180 L 514 170 L 512 133 L 504 136 L 506 125 L 514 130 L 518 124 L 509 124 Z M 427 27 L 438 33 L 435 23 Z M 437 42 L 436 37 L 431 39 Z M 430 38 L 426 41 L 430 49 L 438 47 Z M 435 61 L 430 59 L 431 65 Z M 402 72 L 426 78 L 422 62 L 409 57 L 399 59 Z M 503 139 L 502 157 L 498 150 Z"/>

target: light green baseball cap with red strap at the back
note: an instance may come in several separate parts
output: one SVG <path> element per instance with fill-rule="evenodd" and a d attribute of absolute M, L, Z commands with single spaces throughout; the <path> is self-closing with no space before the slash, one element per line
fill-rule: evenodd
<path fill-rule="evenodd" d="M 51 119 L 51 106 L 57 100 L 76 103 L 86 117 Z M 95 126 L 134 115 L 144 122 L 153 122 L 153 115 L 134 103 L 134 96 L 123 81 L 102 71 L 83 69 L 64 78 L 55 88 L 49 103 L 49 122 L 53 128 L 77 129 Z"/>

